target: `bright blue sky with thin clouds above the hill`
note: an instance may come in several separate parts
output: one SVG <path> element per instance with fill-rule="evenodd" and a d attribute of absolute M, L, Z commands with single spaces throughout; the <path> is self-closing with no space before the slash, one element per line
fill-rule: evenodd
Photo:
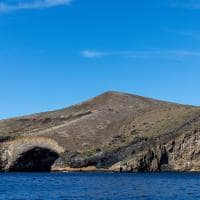
<path fill-rule="evenodd" d="M 200 105 L 199 0 L 0 0 L 0 118 L 107 90 Z"/>

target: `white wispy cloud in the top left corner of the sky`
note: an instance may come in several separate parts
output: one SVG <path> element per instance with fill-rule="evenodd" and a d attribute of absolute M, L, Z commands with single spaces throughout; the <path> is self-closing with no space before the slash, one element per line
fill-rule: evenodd
<path fill-rule="evenodd" d="M 71 1 L 72 0 L 17 0 L 11 3 L 7 0 L 3 0 L 0 1 L 0 12 L 67 6 Z"/>

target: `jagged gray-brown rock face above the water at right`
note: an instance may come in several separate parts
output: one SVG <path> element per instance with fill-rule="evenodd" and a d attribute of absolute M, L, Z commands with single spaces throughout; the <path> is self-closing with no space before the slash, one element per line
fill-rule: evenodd
<path fill-rule="evenodd" d="M 137 172 L 200 171 L 200 132 L 182 134 L 165 144 L 136 153 L 113 169 Z M 161 140 L 162 141 L 162 140 Z M 125 166 L 125 167 L 124 167 Z"/>

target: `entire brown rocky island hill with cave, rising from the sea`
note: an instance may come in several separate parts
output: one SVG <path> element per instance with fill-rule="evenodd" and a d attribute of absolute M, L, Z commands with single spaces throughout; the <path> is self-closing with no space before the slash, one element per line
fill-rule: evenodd
<path fill-rule="evenodd" d="M 200 108 L 107 92 L 0 121 L 2 171 L 199 171 Z"/>

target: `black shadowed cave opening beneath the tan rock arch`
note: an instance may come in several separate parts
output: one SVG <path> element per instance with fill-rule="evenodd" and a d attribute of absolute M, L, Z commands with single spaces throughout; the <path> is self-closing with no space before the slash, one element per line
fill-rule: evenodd
<path fill-rule="evenodd" d="M 51 149 L 34 147 L 22 153 L 12 164 L 9 171 L 50 172 L 51 166 L 58 157 L 58 153 Z"/>

